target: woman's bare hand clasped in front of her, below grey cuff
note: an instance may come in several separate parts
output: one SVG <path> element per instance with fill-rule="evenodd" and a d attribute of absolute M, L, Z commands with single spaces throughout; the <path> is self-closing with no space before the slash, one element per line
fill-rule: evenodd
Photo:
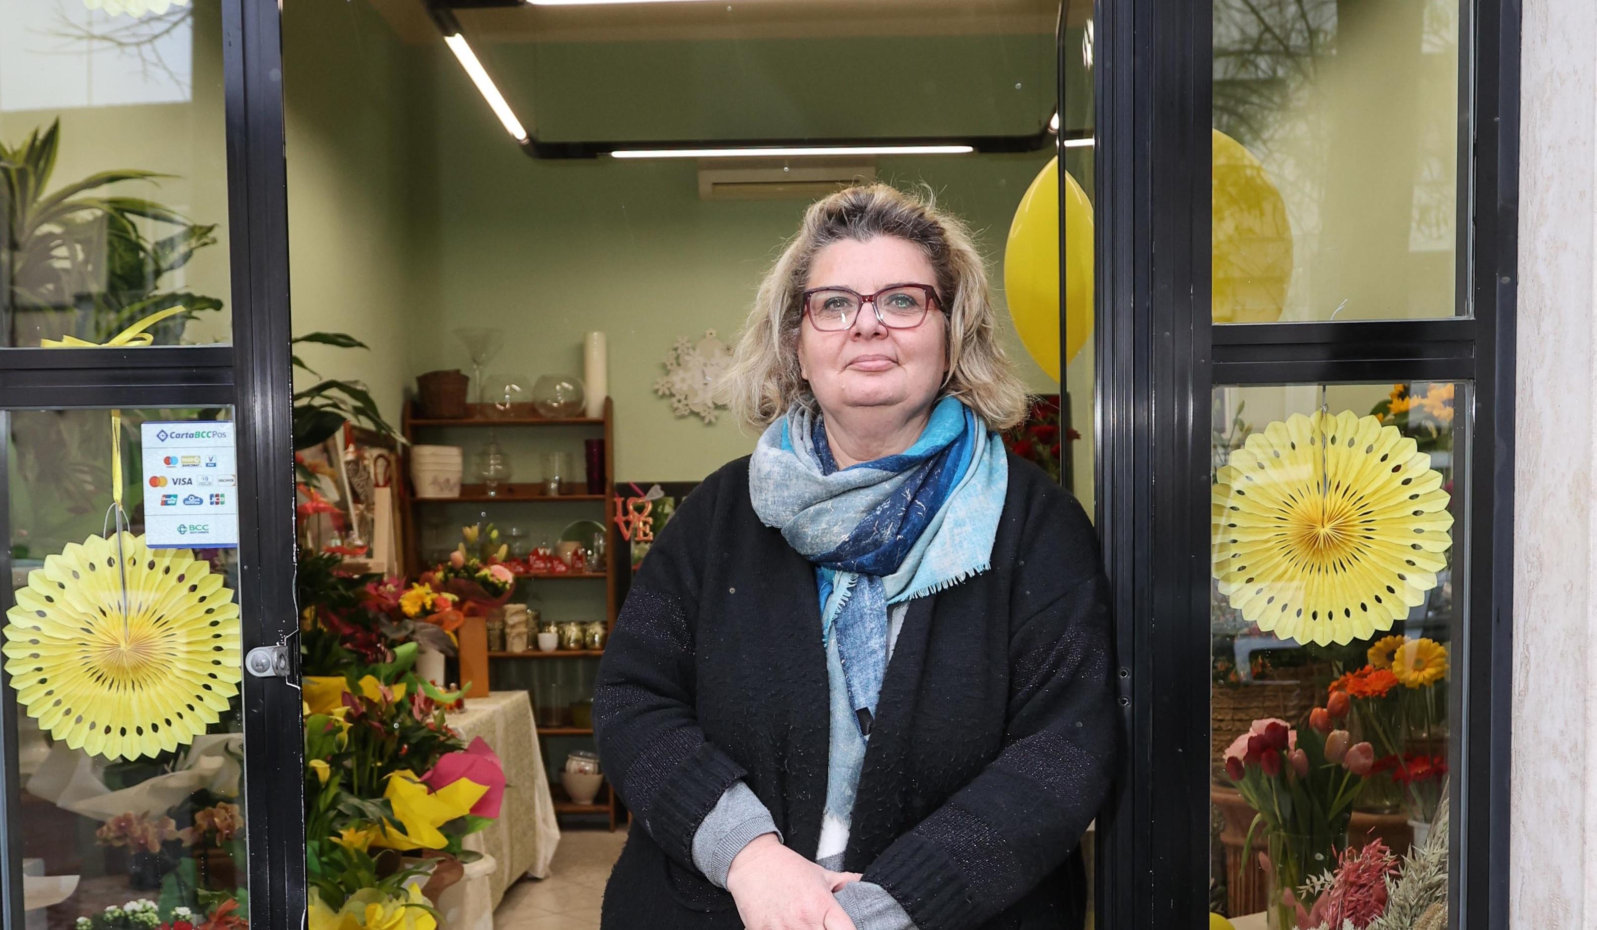
<path fill-rule="evenodd" d="M 744 930 L 854 930 L 832 892 L 858 881 L 859 873 L 824 869 L 775 833 L 751 841 L 727 871 Z"/>

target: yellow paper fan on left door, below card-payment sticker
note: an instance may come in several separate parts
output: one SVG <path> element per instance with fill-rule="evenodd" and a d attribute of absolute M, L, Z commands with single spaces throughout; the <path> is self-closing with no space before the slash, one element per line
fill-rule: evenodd
<path fill-rule="evenodd" d="M 238 694 L 238 605 L 187 549 L 89 536 L 29 573 L 6 611 L 18 702 L 69 748 L 137 759 L 187 745 Z M 123 617 L 126 579 L 126 617 Z"/>

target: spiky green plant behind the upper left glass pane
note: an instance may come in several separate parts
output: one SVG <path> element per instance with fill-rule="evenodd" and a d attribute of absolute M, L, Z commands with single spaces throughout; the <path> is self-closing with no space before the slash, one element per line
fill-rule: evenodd
<path fill-rule="evenodd" d="M 193 314 L 220 309 L 214 297 L 161 289 L 163 278 L 216 244 L 216 223 L 102 190 L 171 175 L 120 167 L 46 193 L 59 145 L 59 121 L 21 145 L 0 142 L 0 300 L 11 313 L 11 345 L 64 335 L 104 343 L 153 313 L 182 308 L 150 329 L 155 341 L 171 343 Z M 164 234 L 152 239 L 149 228 Z"/>

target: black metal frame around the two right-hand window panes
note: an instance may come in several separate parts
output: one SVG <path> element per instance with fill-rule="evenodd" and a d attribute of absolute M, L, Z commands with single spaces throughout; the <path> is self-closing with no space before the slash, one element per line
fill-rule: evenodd
<path fill-rule="evenodd" d="M 1461 314 L 1214 325 L 1211 0 L 1097 0 L 1097 501 L 1126 753 L 1099 818 L 1099 927 L 1203 927 L 1209 881 L 1214 384 L 1472 384 L 1455 638 L 1455 928 L 1508 927 L 1519 0 L 1461 11 Z"/>

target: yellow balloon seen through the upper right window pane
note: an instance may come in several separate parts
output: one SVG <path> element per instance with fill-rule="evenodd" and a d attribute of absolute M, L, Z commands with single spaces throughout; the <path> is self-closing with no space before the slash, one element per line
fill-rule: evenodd
<path fill-rule="evenodd" d="M 1247 148 L 1212 132 L 1214 322 L 1273 322 L 1292 282 L 1287 204 Z"/>

